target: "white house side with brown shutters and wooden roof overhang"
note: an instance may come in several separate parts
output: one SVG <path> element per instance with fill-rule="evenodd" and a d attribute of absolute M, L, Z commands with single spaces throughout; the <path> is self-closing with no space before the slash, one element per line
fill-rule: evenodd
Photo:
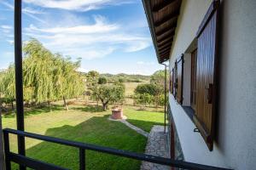
<path fill-rule="evenodd" d="M 256 1 L 143 4 L 159 62 L 169 59 L 172 158 L 255 169 Z"/>

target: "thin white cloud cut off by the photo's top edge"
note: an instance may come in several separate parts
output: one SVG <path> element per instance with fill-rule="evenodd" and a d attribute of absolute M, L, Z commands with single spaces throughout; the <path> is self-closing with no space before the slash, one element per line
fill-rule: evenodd
<path fill-rule="evenodd" d="M 34 5 L 44 8 L 61 8 L 76 11 L 89 11 L 92 9 L 98 9 L 109 5 L 131 3 L 130 0 L 24 0 L 24 2 L 32 3 Z"/>

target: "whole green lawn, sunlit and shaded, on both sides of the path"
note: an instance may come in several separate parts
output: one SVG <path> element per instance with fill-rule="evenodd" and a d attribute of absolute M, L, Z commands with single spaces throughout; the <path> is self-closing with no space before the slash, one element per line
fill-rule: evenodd
<path fill-rule="evenodd" d="M 143 153 L 147 139 L 121 122 L 108 121 L 109 114 L 110 111 L 102 111 L 95 106 L 73 105 L 69 111 L 55 106 L 51 112 L 47 108 L 26 111 L 25 128 L 27 132 Z M 129 117 L 129 122 L 146 131 L 153 124 L 163 121 L 162 113 L 136 111 L 130 107 L 125 107 L 125 115 Z M 16 126 L 14 115 L 3 116 L 2 121 L 3 127 Z M 17 151 L 14 135 L 10 135 L 10 148 Z M 79 150 L 61 144 L 26 139 L 26 156 L 69 169 L 79 169 Z M 87 169 L 139 169 L 140 164 L 140 161 L 128 158 L 86 151 Z"/>

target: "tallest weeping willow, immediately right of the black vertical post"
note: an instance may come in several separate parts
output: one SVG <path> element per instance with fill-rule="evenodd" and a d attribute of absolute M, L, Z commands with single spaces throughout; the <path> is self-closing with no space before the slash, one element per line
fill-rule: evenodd
<path fill-rule="evenodd" d="M 55 99 L 53 71 L 54 55 L 38 42 L 32 39 L 23 48 L 26 59 L 24 59 L 24 99 L 35 100 L 40 103 Z"/>

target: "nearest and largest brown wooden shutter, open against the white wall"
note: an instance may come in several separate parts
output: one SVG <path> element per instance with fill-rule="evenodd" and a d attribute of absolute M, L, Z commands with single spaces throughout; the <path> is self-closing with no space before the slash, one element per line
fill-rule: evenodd
<path fill-rule="evenodd" d="M 209 150 L 213 147 L 216 112 L 218 6 L 214 0 L 197 31 L 195 125 Z"/>

